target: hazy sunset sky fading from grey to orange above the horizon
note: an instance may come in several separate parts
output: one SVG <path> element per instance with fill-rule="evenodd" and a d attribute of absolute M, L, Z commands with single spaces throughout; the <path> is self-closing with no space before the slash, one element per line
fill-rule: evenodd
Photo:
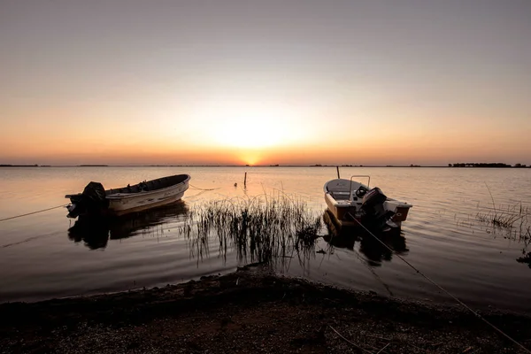
<path fill-rule="evenodd" d="M 528 0 L 1 0 L 0 164 L 531 164 Z"/>

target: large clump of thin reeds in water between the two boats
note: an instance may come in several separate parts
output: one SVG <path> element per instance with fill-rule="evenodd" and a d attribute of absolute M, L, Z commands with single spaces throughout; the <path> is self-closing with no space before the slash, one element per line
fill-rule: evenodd
<path fill-rule="evenodd" d="M 219 255 L 235 250 L 240 262 L 284 262 L 308 255 L 319 238 L 320 215 L 300 198 L 278 192 L 211 201 L 192 209 L 181 231 L 190 255 L 203 258 L 217 244 Z"/>

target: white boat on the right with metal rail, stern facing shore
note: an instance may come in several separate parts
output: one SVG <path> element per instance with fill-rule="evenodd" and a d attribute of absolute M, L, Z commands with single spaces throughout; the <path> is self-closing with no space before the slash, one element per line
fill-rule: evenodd
<path fill-rule="evenodd" d="M 366 185 L 353 180 L 360 177 L 367 179 Z M 388 198 L 377 187 L 370 189 L 370 182 L 370 176 L 358 175 L 325 183 L 325 201 L 335 222 L 344 227 L 401 227 L 412 204 Z"/>

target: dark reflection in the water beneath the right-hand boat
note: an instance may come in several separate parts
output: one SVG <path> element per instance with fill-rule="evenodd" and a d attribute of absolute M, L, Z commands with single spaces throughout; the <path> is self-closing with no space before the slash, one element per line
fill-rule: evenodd
<path fill-rule="evenodd" d="M 334 219 L 330 217 L 328 211 L 323 215 L 327 226 L 327 235 L 323 236 L 331 247 L 355 250 L 358 242 L 358 250 L 366 258 L 370 266 L 381 266 L 382 261 L 390 261 L 393 257 L 393 250 L 397 254 L 408 251 L 405 244 L 404 231 L 401 229 L 390 229 L 386 232 L 367 232 L 360 227 L 339 227 Z M 385 247 L 383 244 L 387 245 Z"/>

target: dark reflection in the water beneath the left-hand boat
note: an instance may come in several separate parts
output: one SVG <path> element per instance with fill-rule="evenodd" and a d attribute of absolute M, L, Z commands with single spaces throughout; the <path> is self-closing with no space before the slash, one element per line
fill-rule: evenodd
<path fill-rule="evenodd" d="M 183 201 L 121 217 L 95 218 L 80 216 L 68 229 L 73 242 L 85 242 L 90 250 L 103 249 L 109 240 L 157 232 L 157 226 L 186 219 L 188 206 Z"/>

